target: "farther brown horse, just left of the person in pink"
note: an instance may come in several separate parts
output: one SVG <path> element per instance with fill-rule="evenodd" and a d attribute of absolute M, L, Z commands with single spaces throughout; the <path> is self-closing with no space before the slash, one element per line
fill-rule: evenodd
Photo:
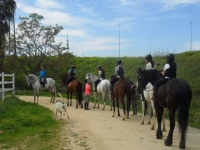
<path fill-rule="evenodd" d="M 67 88 L 66 81 L 69 78 L 68 74 L 60 75 L 60 78 L 63 85 L 66 86 Z M 82 83 L 79 80 L 77 79 L 72 80 L 69 83 L 68 90 L 66 91 L 66 93 L 67 93 L 67 106 L 69 105 L 72 106 L 72 94 L 74 94 L 76 98 L 76 109 L 78 109 L 78 105 L 81 106 L 81 108 L 83 108 Z"/>

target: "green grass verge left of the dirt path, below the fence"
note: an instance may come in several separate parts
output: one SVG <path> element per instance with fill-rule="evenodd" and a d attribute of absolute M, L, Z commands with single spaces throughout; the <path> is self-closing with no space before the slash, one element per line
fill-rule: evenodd
<path fill-rule="evenodd" d="M 0 129 L 3 131 L 0 135 L 0 149 L 20 149 L 19 145 L 23 145 L 23 149 L 37 149 L 40 146 L 56 149 L 55 142 L 59 142 L 55 137 L 59 137 L 57 131 L 60 126 L 53 118 L 53 112 L 16 97 L 0 102 Z"/>

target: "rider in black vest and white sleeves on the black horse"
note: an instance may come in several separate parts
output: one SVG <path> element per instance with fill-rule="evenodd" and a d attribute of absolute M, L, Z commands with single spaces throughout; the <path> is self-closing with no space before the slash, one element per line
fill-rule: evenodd
<path fill-rule="evenodd" d="M 167 63 L 164 66 L 164 70 L 161 74 L 165 77 L 160 80 L 157 80 L 154 84 L 154 99 L 156 99 L 157 91 L 160 85 L 165 84 L 168 80 L 176 78 L 176 63 L 174 62 L 174 54 L 169 53 L 166 57 Z"/>

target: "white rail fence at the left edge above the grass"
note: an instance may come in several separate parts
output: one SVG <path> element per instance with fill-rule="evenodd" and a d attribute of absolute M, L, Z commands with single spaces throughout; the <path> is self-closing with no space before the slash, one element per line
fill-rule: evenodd
<path fill-rule="evenodd" d="M 5 78 L 6 77 L 6 78 Z M 7 78 L 8 77 L 11 77 L 12 80 L 8 80 Z M 4 74 L 4 72 L 2 72 L 0 74 L 0 78 L 1 78 L 1 81 L 0 81 L 0 95 L 2 97 L 2 101 L 4 101 L 4 98 L 5 98 L 5 92 L 7 91 L 12 91 L 12 94 L 15 95 L 15 74 Z M 5 81 L 7 80 L 7 81 Z M 12 88 L 6 88 L 5 85 L 6 84 L 12 84 Z"/>

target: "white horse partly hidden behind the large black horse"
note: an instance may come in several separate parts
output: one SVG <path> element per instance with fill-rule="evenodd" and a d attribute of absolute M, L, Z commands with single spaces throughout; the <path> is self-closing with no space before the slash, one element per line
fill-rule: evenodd
<path fill-rule="evenodd" d="M 154 91 L 153 91 L 153 86 L 150 82 L 146 85 L 146 88 L 144 89 L 143 93 L 144 93 L 145 100 L 149 103 L 148 104 L 148 114 L 149 114 L 148 124 L 151 124 L 151 120 L 150 120 L 151 110 L 153 110 L 154 120 L 153 120 L 153 124 L 151 126 L 151 130 L 154 130 L 155 121 L 156 121 L 156 114 L 155 114 L 155 109 L 154 109 L 154 101 L 152 100 Z M 145 101 L 142 101 L 142 121 L 141 121 L 141 124 L 144 124 L 144 117 L 145 117 Z M 162 130 L 166 131 L 166 129 L 165 129 L 165 111 L 163 111 L 162 122 L 163 122 L 163 129 Z"/>

